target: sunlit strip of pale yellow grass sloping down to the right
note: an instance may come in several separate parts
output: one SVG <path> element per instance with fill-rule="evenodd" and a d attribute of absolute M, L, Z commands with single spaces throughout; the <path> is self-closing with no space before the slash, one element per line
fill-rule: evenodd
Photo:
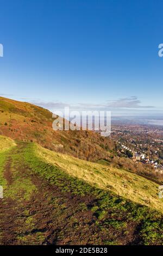
<path fill-rule="evenodd" d="M 163 213 L 163 200 L 158 197 L 158 185 L 123 169 L 102 166 L 101 164 L 79 160 L 64 154 L 55 153 L 30 144 L 30 150 L 47 164 L 53 164 L 75 178 L 89 184 L 147 205 Z"/>

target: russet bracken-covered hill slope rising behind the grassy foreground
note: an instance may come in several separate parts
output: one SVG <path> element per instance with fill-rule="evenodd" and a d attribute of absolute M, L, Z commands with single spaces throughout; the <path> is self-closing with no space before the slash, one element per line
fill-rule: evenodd
<path fill-rule="evenodd" d="M 0 135 L 33 141 L 80 159 L 107 159 L 114 142 L 92 131 L 54 131 L 52 113 L 27 102 L 0 97 Z"/>

